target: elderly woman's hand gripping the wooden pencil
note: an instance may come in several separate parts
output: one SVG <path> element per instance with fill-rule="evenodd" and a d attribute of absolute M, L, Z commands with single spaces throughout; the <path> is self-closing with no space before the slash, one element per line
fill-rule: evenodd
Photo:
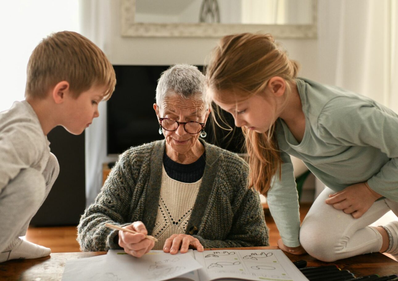
<path fill-rule="evenodd" d="M 139 232 L 133 234 L 119 230 L 119 246 L 121 246 L 127 254 L 140 258 L 155 245 L 154 241 L 145 238 L 148 231 L 141 221 L 136 221 L 123 228 Z"/>

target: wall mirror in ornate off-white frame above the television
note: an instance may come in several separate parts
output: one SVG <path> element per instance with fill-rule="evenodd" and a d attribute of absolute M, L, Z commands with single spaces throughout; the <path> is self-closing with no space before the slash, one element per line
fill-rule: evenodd
<path fill-rule="evenodd" d="M 122 35 L 315 38 L 317 0 L 122 0 Z"/>

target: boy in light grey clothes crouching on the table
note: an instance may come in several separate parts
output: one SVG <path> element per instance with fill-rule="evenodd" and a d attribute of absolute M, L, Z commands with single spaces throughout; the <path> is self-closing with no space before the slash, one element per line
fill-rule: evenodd
<path fill-rule="evenodd" d="M 86 37 L 62 31 L 43 39 L 27 65 L 25 101 L 0 112 L 0 262 L 48 256 L 21 240 L 59 173 L 47 134 L 81 134 L 113 93 L 115 72 Z"/>

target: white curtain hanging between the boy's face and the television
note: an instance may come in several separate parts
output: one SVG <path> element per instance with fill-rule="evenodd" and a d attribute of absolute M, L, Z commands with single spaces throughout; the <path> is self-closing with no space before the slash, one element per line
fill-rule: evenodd
<path fill-rule="evenodd" d="M 81 33 L 93 41 L 112 62 L 109 0 L 79 0 Z M 114 161 L 107 157 L 106 149 L 106 102 L 98 106 L 100 116 L 85 131 L 86 138 L 86 205 L 94 202 L 102 186 L 102 163 Z"/>

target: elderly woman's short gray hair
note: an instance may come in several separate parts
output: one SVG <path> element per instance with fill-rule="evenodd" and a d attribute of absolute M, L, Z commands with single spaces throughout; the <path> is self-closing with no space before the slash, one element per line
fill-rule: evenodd
<path fill-rule="evenodd" d="M 156 103 L 160 105 L 169 91 L 183 99 L 203 100 L 207 107 L 205 76 L 196 66 L 175 64 L 162 73 L 156 87 Z"/>

